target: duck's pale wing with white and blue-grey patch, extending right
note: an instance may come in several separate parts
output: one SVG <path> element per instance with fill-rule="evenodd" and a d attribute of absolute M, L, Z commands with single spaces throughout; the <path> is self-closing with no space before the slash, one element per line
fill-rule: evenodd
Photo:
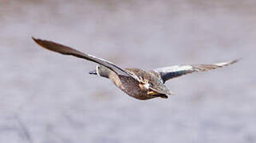
<path fill-rule="evenodd" d="M 230 62 L 216 63 L 216 64 L 191 64 L 191 65 L 175 65 L 171 67 L 156 68 L 153 72 L 160 75 L 160 78 L 165 83 L 168 79 L 172 79 L 181 75 L 186 75 L 192 72 L 205 72 L 213 70 L 215 68 L 222 68 L 224 66 L 234 64 L 238 60 L 232 60 Z"/>

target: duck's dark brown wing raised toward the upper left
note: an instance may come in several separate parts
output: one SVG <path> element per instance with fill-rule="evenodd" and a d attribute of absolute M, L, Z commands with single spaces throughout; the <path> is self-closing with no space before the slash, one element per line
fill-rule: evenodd
<path fill-rule="evenodd" d="M 57 44 L 53 41 L 45 41 L 41 39 L 36 39 L 33 38 L 33 41 L 35 41 L 37 44 L 39 44 L 41 47 L 49 49 L 53 52 L 59 52 L 64 55 L 71 55 L 71 56 L 77 56 L 79 58 L 85 59 L 85 60 L 90 60 L 93 61 L 97 64 L 101 64 L 104 67 L 112 70 L 113 72 L 116 72 L 117 75 L 126 75 L 126 76 L 132 76 L 132 78 L 138 80 L 138 77 L 136 75 L 132 75 L 128 72 L 125 72 L 122 68 L 117 67 L 115 64 L 112 64 L 111 62 L 107 60 L 100 59 L 96 56 L 88 55 L 83 52 L 79 52 L 73 48 L 70 48 L 68 46 L 62 45 L 62 44 Z"/>

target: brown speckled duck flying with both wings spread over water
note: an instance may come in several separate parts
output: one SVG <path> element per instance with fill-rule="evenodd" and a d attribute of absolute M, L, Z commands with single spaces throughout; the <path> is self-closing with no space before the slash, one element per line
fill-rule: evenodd
<path fill-rule="evenodd" d="M 215 68 L 222 68 L 229 64 L 234 64 L 238 60 L 223 62 L 218 64 L 193 64 L 193 65 L 175 65 L 171 67 L 156 68 L 152 71 L 144 71 L 138 68 L 120 68 L 107 60 L 87 55 L 73 48 L 69 48 L 53 41 L 44 41 L 33 38 L 37 44 L 53 52 L 60 52 L 64 55 L 77 56 L 85 60 L 91 60 L 98 65 L 96 70 L 90 74 L 100 75 L 111 79 L 112 82 L 126 94 L 140 100 L 153 99 L 161 97 L 167 99 L 167 95 L 173 95 L 165 87 L 164 83 L 181 75 L 192 72 L 208 71 Z"/>

